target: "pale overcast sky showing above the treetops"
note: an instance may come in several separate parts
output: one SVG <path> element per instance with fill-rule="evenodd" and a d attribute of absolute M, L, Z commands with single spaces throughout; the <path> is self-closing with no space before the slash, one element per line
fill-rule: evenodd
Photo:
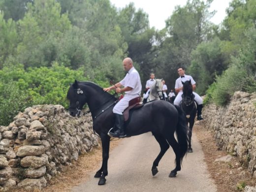
<path fill-rule="evenodd" d="M 129 2 L 133 2 L 135 7 L 142 8 L 149 15 L 150 27 L 161 30 L 165 27 L 165 20 L 171 16 L 176 5 L 184 6 L 187 0 L 110 0 L 117 8 L 123 8 Z M 231 0 L 213 0 L 210 11 L 216 10 L 217 13 L 211 19 L 215 24 L 220 24 L 226 13 Z"/>

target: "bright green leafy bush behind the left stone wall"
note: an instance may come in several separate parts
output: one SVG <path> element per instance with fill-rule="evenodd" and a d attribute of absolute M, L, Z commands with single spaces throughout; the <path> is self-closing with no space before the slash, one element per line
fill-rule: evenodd
<path fill-rule="evenodd" d="M 28 68 L 22 64 L 0 70 L 0 125 L 8 125 L 19 111 L 37 104 L 61 104 L 68 107 L 67 90 L 74 80 L 88 81 L 83 70 L 53 67 Z M 109 83 L 95 80 L 101 87 Z"/>

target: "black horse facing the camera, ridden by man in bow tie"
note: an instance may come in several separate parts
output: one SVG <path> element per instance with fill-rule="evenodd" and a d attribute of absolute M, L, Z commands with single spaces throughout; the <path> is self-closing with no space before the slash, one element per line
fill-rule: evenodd
<path fill-rule="evenodd" d="M 194 101 L 193 89 L 191 80 L 182 82 L 183 84 L 183 95 L 180 103 L 182 111 L 186 114 L 187 124 L 189 124 L 189 149 L 188 152 L 192 153 L 191 148 L 191 137 L 192 129 L 194 126 L 194 118 L 196 115 L 196 102 Z"/>

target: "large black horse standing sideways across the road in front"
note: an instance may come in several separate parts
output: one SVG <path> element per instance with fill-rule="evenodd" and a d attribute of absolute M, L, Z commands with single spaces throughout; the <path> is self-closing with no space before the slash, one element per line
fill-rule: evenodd
<path fill-rule="evenodd" d="M 95 83 L 78 81 L 70 86 L 67 98 L 70 101 L 70 115 L 79 116 L 85 103 L 88 104 L 92 113 L 93 127 L 102 143 L 103 158 L 102 166 L 96 172 L 95 177 L 100 178 L 98 185 L 104 185 L 105 177 L 108 175 L 107 162 L 110 144 L 110 137 L 107 133 L 114 126 L 115 116 L 112 109 L 117 98 L 104 92 Z M 169 177 L 175 177 L 177 171 L 181 170 L 181 162 L 188 151 L 188 127 L 185 118 L 179 107 L 163 100 L 148 102 L 143 107 L 130 111 L 130 119 L 125 123 L 126 134 L 133 136 L 152 131 L 160 144 L 160 153 L 152 166 L 153 176 L 158 173 L 157 166 L 169 145 L 176 156 L 176 167 L 170 172 Z M 175 131 L 178 142 L 174 137 Z"/>

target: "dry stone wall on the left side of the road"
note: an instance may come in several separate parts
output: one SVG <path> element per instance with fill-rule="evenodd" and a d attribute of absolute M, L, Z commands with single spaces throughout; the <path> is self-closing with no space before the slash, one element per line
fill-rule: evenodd
<path fill-rule="evenodd" d="M 36 105 L 0 126 L 0 191 L 42 189 L 52 176 L 98 145 L 88 116 L 61 105 Z"/>

